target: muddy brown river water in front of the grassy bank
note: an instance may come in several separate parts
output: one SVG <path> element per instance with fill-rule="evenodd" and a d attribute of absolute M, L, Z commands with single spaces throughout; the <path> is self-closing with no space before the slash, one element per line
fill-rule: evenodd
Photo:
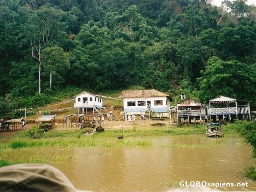
<path fill-rule="evenodd" d="M 243 176 L 243 169 L 255 166 L 251 147 L 237 136 L 143 137 L 153 147 L 85 147 L 59 150 L 19 149 L 15 158 L 31 155 L 50 158 L 77 189 L 89 191 L 168 191 L 181 181 L 245 183 L 247 187 L 222 187 L 221 191 L 255 191 L 256 182 Z M 172 147 L 171 147 L 172 146 Z M 1 153 L 1 152 L 0 152 Z M 4 152 L 5 159 L 14 154 Z M 214 188 L 213 188 L 214 189 Z"/>

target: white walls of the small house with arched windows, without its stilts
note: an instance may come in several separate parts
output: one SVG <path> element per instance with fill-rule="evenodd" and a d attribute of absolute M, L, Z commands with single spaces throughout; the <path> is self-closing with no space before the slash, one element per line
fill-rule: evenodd
<path fill-rule="evenodd" d="M 83 97 L 87 97 L 88 98 L 88 101 L 86 103 L 83 103 Z M 92 98 L 92 101 L 90 101 L 90 97 Z M 80 98 L 80 101 L 78 101 L 78 98 Z M 95 101 L 95 98 L 96 98 L 96 101 Z M 100 101 L 101 102 L 100 102 Z M 80 94 L 78 96 L 75 97 L 75 103 L 74 103 L 74 107 L 102 107 L 102 103 L 103 103 L 103 100 L 102 98 L 100 97 L 96 97 L 94 95 L 91 95 L 91 94 Z"/>

